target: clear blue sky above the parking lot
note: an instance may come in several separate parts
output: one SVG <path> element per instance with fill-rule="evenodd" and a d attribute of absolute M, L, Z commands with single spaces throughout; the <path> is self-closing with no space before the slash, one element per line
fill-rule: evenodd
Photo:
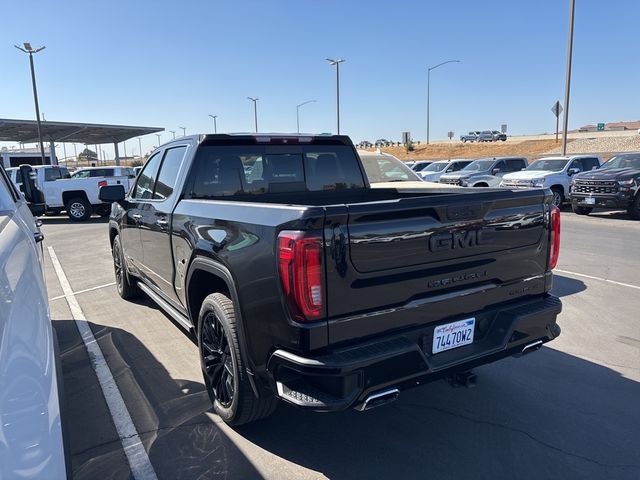
<path fill-rule="evenodd" d="M 354 142 L 469 130 L 539 134 L 564 101 L 568 0 L 2 1 L 0 118 L 213 130 L 336 132 Z M 569 128 L 640 119 L 638 0 L 576 0 Z M 11 145 L 11 144 L 8 144 Z M 14 144 L 15 145 L 15 144 Z M 143 151 L 157 138 L 143 138 Z M 122 147 L 121 147 L 122 148 Z M 137 140 L 127 153 L 138 153 Z M 113 147 L 105 146 L 108 155 Z M 67 149 L 69 152 L 70 149 Z M 122 150 L 121 150 L 122 153 Z M 61 148 L 57 150 L 62 156 Z M 68 153 L 69 154 L 69 153 Z"/>

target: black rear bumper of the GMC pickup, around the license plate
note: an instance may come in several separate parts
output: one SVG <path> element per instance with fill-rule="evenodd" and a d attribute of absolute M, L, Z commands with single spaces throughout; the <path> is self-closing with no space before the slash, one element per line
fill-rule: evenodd
<path fill-rule="evenodd" d="M 344 410 L 383 389 L 411 388 L 521 354 L 532 344 L 527 352 L 537 350 L 560 335 L 561 310 L 560 300 L 550 295 L 486 309 L 475 315 L 472 344 L 435 355 L 436 325 L 429 325 L 316 357 L 276 350 L 267 368 L 282 400 L 316 411 Z"/>

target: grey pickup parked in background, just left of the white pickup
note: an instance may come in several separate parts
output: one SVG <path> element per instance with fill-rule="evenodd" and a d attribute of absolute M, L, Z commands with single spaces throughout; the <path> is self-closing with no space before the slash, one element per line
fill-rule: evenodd
<path fill-rule="evenodd" d="M 527 168 L 524 157 L 483 158 L 474 160 L 462 170 L 445 173 L 440 183 L 461 187 L 497 187 L 507 173 Z"/>

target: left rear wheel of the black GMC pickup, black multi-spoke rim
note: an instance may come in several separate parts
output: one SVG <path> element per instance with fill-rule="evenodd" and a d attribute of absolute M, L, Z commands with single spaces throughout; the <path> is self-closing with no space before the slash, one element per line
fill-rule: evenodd
<path fill-rule="evenodd" d="M 233 302 L 221 293 L 207 296 L 198 315 L 200 366 L 213 409 L 229 425 L 265 418 L 278 405 L 273 395 L 253 393 L 237 329 Z"/>

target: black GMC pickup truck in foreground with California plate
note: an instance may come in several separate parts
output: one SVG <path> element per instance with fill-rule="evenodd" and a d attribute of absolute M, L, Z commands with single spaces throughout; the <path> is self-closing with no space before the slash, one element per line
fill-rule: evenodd
<path fill-rule="evenodd" d="M 348 137 L 256 134 L 176 139 L 100 195 L 118 292 L 194 332 L 232 425 L 469 385 L 560 334 L 549 190 L 373 189 Z"/>

